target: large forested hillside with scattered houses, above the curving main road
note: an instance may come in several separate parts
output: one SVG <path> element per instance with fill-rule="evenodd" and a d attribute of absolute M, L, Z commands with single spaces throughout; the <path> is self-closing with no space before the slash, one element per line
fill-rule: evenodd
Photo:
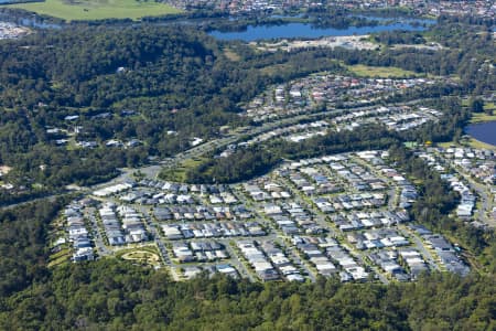
<path fill-rule="evenodd" d="M 96 183 L 149 156 L 184 150 L 193 137 L 216 136 L 220 126 L 246 124 L 238 104 L 267 84 L 343 71 L 323 55 L 255 55 L 241 44 L 229 46 L 247 61 L 230 61 L 226 46 L 191 28 L 148 25 L 39 31 L 0 43 L 0 160 L 13 168 L 7 180 L 28 194 Z M 287 68 L 262 71 L 273 65 Z M 141 143 L 105 148 L 110 139 Z"/>

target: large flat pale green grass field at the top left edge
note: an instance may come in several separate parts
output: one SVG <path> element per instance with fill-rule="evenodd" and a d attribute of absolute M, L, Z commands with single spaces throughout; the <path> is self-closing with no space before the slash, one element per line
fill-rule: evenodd
<path fill-rule="evenodd" d="M 1 6 L 0 6 L 1 7 Z M 8 4 L 61 18 L 67 21 L 132 19 L 179 13 L 181 10 L 154 0 L 46 0 L 44 2 Z"/>

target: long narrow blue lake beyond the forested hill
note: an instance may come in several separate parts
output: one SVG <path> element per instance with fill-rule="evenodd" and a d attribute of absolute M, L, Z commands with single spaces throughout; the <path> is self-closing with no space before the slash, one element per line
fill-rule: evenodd
<path fill-rule="evenodd" d="M 425 20 L 405 20 L 397 21 L 391 24 L 382 24 L 376 26 L 349 26 L 346 29 L 334 28 L 313 28 L 310 23 L 288 23 L 282 25 L 248 25 L 246 31 L 240 32 L 220 32 L 212 31 L 211 35 L 219 40 L 241 40 L 251 42 L 257 40 L 269 39 L 290 39 L 290 38 L 308 38 L 317 39 L 322 36 L 342 36 L 342 35 L 363 35 L 374 32 L 406 30 L 406 31 L 424 31 Z"/>

